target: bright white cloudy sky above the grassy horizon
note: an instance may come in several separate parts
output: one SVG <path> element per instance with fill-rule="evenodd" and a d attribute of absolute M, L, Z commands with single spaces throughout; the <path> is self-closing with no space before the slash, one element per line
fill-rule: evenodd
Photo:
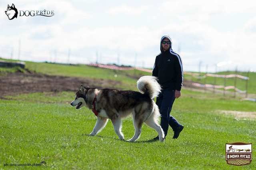
<path fill-rule="evenodd" d="M 54 16 L 8 20 L 12 3 Z M 152 68 L 168 34 L 186 71 L 256 71 L 255 9 L 247 0 L 1 0 L 0 57 L 17 59 L 20 41 L 21 60 Z"/>

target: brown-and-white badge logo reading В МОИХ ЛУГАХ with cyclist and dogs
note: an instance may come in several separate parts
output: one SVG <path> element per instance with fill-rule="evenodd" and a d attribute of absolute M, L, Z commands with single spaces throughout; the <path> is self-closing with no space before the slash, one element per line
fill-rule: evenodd
<path fill-rule="evenodd" d="M 230 165 L 248 165 L 252 162 L 252 144 L 226 143 L 226 161 Z"/>

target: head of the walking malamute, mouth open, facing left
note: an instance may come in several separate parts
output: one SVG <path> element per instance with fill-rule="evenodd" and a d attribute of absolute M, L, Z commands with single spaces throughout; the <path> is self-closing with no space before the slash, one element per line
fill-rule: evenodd
<path fill-rule="evenodd" d="M 81 85 L 78 92 L 76 92 L 75 100 L 70 103 L 71 106 L 76 106 L 76 109 L 80 109 L 82 107 L 88 107 L 88 100 L 86 94 L 88 92 L 88 87 L 84 87 Z"/>

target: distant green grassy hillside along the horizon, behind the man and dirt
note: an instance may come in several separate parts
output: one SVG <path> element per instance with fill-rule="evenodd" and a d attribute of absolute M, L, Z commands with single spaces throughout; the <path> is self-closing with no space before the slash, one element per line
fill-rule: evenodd
<path fill-rule="evenodd" d="M 6 59 L 7 60 L 7 59 Z M 10 61 L 10 60 L 8 60 Z M 16 60 L 12 60 L 16 61 Z M 64 75 L 64 76 L 74 76 L 74 77 L 89 77 L 93 79 L 110 79 L 115 81 L 121 81 L 124 85 L 123 87 L 130 89 L 134 84 L 134 77 L 139 77 L 142 75 L 152 75 L 139 70 L 130 71 L 116 71 L 104 68 L 96 68 L 88 65 L 64 65 L 64 64 L 52 64 L 52 63 L 35 63 L 26 61 L 26 68 L 38 73 L 44 73 L 48 75 Z M 16 68 L 17 69 L 17 68 Z M 12 70 L 16 70 L 12 69 Z M 0 71 L 6 71 L 4 68 L 0 68 Z M 234 71 L 218 72 L 217 74 L 228 75 L 235 74 Z M 245 72 L 238 72 L 239 75 L 247 76 Z M 116 76 L 117 77 L 116 77 Z M 200 76 L 205 75 L 205 73 L 200 73 Z M 250 72 L 250 80 L 248 81 L 248 93 L 256 94 L 256 73 Z M 197 79 L 191 75 L 184 74 L 185 80 L 192 80 L 194 82 L 207 84 L 214 84 L 214 77 L 207 77 L 206 79 Z M 216 85 L 224 85 L 223 78 L 216 78 Z M 226 79 L 226 86 L 234 85 L 234 78 Z M 246 90 L 246 81 L 242 79 L 236 79 L 236 87 L 240 90 Z M 121 86 L 116 86 L 116 88 L 122 88 Z M 134 89 L 134 87 L 132 87 Z M 232 91 L 232 90 L 230 90 Z"/>

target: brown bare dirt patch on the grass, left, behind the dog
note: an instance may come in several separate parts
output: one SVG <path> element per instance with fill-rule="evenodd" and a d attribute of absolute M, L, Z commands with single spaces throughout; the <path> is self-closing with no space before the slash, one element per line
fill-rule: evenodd
<path fill-rule="evenodd" d="M 20 93 L 46 91 L 77 91 L 80 85 L 96 88 L 114 88 L 119 81 L 78 77 L 51 76 L 32 72 L 8 73 L 0 76 L 0 97 Z"/>

